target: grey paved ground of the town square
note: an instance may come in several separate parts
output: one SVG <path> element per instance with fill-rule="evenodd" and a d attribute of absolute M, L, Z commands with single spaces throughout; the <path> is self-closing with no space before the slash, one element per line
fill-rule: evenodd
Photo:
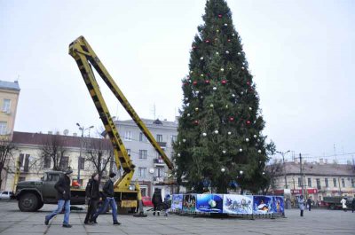
<path fill-rule="evenodd" d="M 286 211 L 286 218 L 277 219 L 238 219 L 238 218 L 206 218 L 170 215 L 153 216 L 148 211 L 146 218 L 132 215 L 119 215 L 122 223 L 112 224 L 111 215 L 100 215 L 97 225 L 84 225 L 85 212 L 73 211 L 70 223 L 73 228 L 61 226 L 63 215 L 57 215 L 51 223 L 44 225 L 44 215 L 56 208 L 45 205 L 40 211 L 33 213 L 20 212 L 15 201 L 0 201 L 0 234 L 355 234 L 355 213 L 340 210 L 314 209 L 304 211 Z"/>

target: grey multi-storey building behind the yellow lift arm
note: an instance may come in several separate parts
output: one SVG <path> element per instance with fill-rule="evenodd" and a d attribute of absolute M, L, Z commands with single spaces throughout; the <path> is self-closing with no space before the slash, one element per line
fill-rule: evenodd
<path fill-rule="evenodd" d="M 171 159 L 172 143 L 177 139 L 177 121 L 142 119 L 162 150 Z M 162 190 L 162 196 L 173 192 L 168 185 L 170 173 L 160 155 L 154 150 L 137 124 L 132 120 L 114 121 L 127 152 L 136 165 L 133 179 L 137 179 L 143 196 L 152 196 L 154 189 Z"/>

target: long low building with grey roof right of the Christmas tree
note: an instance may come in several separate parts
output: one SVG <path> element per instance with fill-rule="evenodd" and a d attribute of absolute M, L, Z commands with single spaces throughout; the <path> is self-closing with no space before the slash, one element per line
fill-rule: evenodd
<path fill-rule="evenodd" d="M 351 162 L 335 164 L 320 160 L 300 164 L 296 160 L 279 164 L 282 170 L 275 179 L 276 194 L 289 191 L 293 199 L 306 194 L 315 201 L 327 196 L 355 195 L 355 166 Z"/>

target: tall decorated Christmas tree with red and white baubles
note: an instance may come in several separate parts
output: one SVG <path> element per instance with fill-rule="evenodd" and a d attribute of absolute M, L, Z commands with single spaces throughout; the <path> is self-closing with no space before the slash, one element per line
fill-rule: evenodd
<path fill-rule="evenodd" d="M 264 167 L 274 145 L 262 135 L 256 84 L 232 12 L 224 0 L 207 1 L 205 11 L 182 80 L 177 182 L 193 192 L 258 192 L 267 184 Z"/>

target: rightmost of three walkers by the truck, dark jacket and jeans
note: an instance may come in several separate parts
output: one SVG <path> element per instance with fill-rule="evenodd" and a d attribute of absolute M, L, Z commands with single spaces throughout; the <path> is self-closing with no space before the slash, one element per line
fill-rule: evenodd
<path fill-rule="evenodd" d="M 93 215 L 92 221 L 96 221 L 98 216 L 102 214 L 104 211 L 106 211 L 108 204 L 110 204 L 112 209 L 112 219 L 114 221 L 114 225 L 121 224 L 117 221 L 117 204 L 114 200 L 114 176 L 116 176 L 116 174 L 110 173 L 109 175 L 110 178 L 106 181 L 102 189 L 106 199 L 102 204 L 102 206 L 99 208 L 99 210 L 95 213 L 95 215 Z"/>

